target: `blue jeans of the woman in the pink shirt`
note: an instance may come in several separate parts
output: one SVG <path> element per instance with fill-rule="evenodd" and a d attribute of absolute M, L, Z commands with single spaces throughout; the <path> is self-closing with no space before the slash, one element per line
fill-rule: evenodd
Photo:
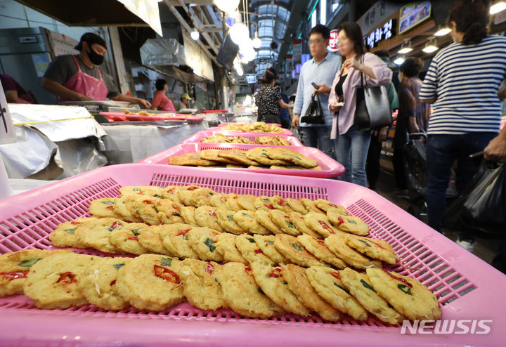
<path fill-rule="evenodd" d="M 337 135 L 335 139 L 336 159 L 346 169 L 344 175 L 339 177 L 340 180 L 364 187 L 367 185 L 365 162 L 370 138 L 370 131 L 358 131 L 355 125 L 351 126 L 346 133 Z"/>

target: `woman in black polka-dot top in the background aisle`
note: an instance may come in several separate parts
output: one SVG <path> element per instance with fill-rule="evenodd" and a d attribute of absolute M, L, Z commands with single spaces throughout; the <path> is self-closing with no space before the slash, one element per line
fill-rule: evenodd
<path fill-rule="evenodd" d="M 280 124 L 280 108 L 292 109 L 281 97 L 281 91 L 275 87 L 276 73 L 273 67 L 268 67 L 261 79 L 261 87 L 257 93 L 258 122 Z"/>

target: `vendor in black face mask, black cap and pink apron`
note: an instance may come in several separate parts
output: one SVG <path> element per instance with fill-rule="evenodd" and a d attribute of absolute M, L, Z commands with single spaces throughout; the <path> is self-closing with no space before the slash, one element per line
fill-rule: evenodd
<path fill-rule="evenodd" d="M 143 107 L 151 104 L 141 98 L 120 94 L 112 78 L 98 66 L 103 63 L 107 49 L 105 41 L 93 32 L 86 32 L 75 49 L 79 55 L 60 55 L 48 66 L 42 88 L 63 101 L 128 101 Z"/>

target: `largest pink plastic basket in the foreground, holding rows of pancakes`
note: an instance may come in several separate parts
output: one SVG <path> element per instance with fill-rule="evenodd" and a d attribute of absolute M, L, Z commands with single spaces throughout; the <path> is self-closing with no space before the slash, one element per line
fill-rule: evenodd
<path fill-rule="evenodd" d="M 2 346 L 504 346 L 506 277 L 375 192 L 318 178 L 166 165 L 106 166 L 0 200 L 0 253 L 51 249 L 58 223 L 85 216 L 92 199 L 117 197 L 124 185 L 189 185 L 217 192 L 329 199 L 392 244 L 406 268 L 439 298 L 444 320 L 492 320 L 489 334 L 406 334 L 371 318 L 336 323 L 285 315 L 269 320 L 228 309 L 204 311 L 183 303 L 162 312 L 95 306 L 39 310 L 27 296 L 0 298 Z M 82 252 L 87 252 L 82 250 Z M 471 325 L 469 322 L 467 326 Z M 426 329 L 428 331 L 429 329 Z"/>

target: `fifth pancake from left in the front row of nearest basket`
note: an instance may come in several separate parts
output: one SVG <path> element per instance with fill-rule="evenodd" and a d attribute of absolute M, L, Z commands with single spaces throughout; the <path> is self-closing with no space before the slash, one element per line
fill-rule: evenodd
<path fill-rule="evenodd" d="M 218 274 L 222 266 L 214 261 L 185 259 L 181 263 L 183 294 L 188 302 L 202 310 L 217 310 L 225 306 Z"/>

